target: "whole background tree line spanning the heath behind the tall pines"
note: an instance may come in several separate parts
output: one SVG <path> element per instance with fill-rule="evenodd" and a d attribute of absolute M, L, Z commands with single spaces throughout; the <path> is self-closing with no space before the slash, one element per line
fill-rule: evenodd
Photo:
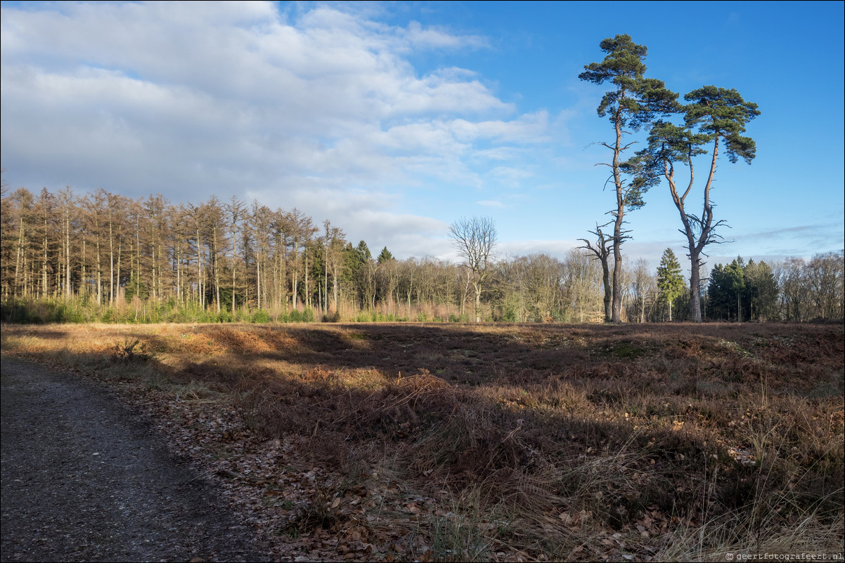
<path fill-rule="evenodd" d="M 174 204 L 161 195 L 133 199 L 104 189 L 77 195 L 69 187 L 37 194 L 3 187 L 0 204 L 5 321 L 601 322 L 604 317 L 607 273 L 586 249 L 573 249 L 563 259 L 491 254 L 479 278 L 481 271 L 466 259 L 398 260 L 387 247 L 373 255 L 365 241 L 353 245 L 329 221 L 319 224 L 297 209 L 274 210 L 237 198 Z M 493 227 L 489 221 L 484 225 Z M 453 234 L 460 231 L 458 221 Z M 719 264 L 702 290 L 706 318 L 842 318 L 842 263 L 838 252 L 771 266 L 741 258 Z M 679 293 L 677 279 L 664 283 L 672 270 L 685 288 L 677 260 L 669 266 L 662 261 L 651 271 L 645 260 L 622 265 L 624 320 L 691 320 L 690 292 Z"/>

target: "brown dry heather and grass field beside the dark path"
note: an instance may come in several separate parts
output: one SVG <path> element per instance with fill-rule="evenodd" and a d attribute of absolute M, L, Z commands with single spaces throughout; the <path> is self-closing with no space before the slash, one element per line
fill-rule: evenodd
<path fill-rule="evenodd" d="M 306 557 L 842 550 L 841 324 L 4 326 L 3 352 L 144 382 Z"/>

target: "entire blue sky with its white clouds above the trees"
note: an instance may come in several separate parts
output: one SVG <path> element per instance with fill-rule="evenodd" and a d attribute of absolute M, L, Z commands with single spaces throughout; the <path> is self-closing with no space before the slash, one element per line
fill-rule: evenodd
<path fill-rule="evenodd" d="M 760 106 L 709 263 L 810 257 L 845 246 L 843 5 L 3 3 L 3 179 L 257 199 L 397 257 L 454 258 L 450 223 L 489 215 L 502 254 L 563 257 L 613 206 L 578 73 L 626 33 L 668 88 Z M 684 256 L 668 187 L 628 218 L 630 259 Z"/>

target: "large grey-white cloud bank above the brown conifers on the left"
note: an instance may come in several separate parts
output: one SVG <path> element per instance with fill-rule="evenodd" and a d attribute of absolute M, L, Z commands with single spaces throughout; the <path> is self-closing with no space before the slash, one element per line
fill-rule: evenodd
<path fill-rule="evenodd" d="M 486 163 L 548 140 L 545 111 L 519 115 L 471 70 L 419 75 L 406 58 L 487 48 L 477 35 L 334 5 L 0 9 L 3 165 L 17 185 L 237 194 L 416 253 L 445 227 L 402 213 L 403 191 L 516 184 L 519 165 Z"/>

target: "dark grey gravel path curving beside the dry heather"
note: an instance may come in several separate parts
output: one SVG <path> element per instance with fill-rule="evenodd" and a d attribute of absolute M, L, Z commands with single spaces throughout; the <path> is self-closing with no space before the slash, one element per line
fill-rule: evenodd
<path fill-rule="evenodd" d="M 3 357 L 0 560 L 267 560 L 105 389 Z"/>

